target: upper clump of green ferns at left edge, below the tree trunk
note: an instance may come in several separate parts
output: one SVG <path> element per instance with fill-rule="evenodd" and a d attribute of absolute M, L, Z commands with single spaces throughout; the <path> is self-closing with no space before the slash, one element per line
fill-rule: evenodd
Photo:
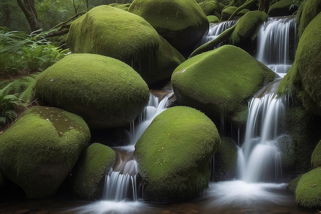
<path fill-rule="evenodd" d="M 0 27 L 0 77 L 42 71 L 62 59 L 68 50 L 51 45 L 47 32 L 9 31 Z"/>

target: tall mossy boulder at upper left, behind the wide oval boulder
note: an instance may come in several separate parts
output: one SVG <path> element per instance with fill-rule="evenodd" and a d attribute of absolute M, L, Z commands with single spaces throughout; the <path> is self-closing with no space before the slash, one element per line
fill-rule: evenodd
<path fill-rule="evenodd" d="M 168 82 L 185 58 L 144 18 L 125 10 L 101 5 L 77 18 L 67 35 L 73 53 L 94 53 L 123 61 L 149 86 Z"/>

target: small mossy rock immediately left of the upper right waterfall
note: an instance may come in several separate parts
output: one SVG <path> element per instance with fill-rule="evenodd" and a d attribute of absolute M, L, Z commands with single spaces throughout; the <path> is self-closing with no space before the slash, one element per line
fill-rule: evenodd
<path fill-rule="evenodd" d="M 268 15 L 261 11 L 250 11 L 242 16 L 231 35 L 233 44 L 242 40 L 254 40 L 260 26 L 267 21 Z"/>

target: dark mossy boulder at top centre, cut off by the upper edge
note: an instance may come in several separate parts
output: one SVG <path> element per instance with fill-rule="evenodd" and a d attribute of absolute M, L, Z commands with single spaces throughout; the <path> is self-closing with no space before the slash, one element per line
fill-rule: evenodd
<path fill-rule="evenodd" d="M 134 0 L 129 12 L 142 16 L 183 55 L 189 55 L 209 28 L 195 0 Z"/>

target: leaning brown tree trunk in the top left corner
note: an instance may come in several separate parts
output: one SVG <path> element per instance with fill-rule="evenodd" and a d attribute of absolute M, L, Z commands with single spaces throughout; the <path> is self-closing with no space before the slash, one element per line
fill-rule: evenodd
<path fill-rule="evenodd" d="M 18 5 L 25 13 L 25 16 L 30 25 L 31 31 L 36 31 L 42 28 L 41 24 L 38 21 L 37 12 L 34 7 L 34 0 L 17 0 Z"/>

